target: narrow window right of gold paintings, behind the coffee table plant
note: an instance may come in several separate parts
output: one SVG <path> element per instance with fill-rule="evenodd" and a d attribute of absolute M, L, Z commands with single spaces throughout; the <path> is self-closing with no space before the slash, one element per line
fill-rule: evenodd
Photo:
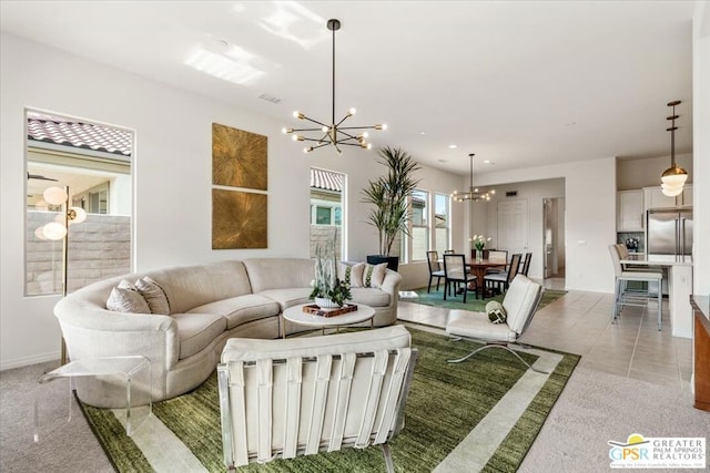
<path fill-rule="evenodd" d="M 345 175 L 333 171 L 311 168 L 311 257 L 318 245 L 335 238 L 335 256 L 343 259 L 343 193 Z"/>

